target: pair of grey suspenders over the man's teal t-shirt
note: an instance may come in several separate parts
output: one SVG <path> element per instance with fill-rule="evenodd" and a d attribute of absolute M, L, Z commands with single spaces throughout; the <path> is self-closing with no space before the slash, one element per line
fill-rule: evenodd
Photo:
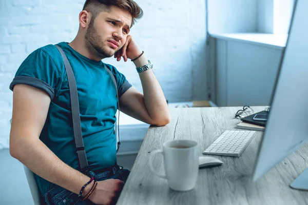
<path fill-rule="evenodd" d="M 77 87 L 76 87 L 76 81 L 74 77 L 74 73 L 72 71 L 72 68 L 69 64 L 69 61 L 62 50 L 61 47 L 55 45 L 55 47 L 59 50 L 61 53 L 61 56 L 64 61 L 65 70 L 67 73 L 67 79 L 68 79 L 68 85 L 69 85 L 69 93 L 70 93 L 70 99 L 71 99 L 71 107 L 72 107 L 72 119 L 73 119 L 73 131 L 74 131 L 74 138 L 75 138 L 75 146 L 76 146 L 76 152 L 78 155 L 79 160 L 79 166 L 82 170 L 86 170 L 88 168 L 88 160 L 85 152 L 85 147 L 83 144 L 82 139 L 82 132 L 81 132 L 81 124 L 80 124 L 80 111 L 79 111 L 79 101 L 78 101 L 78 93 L 77 93 Z M 107 70 L 107 72 L 110 74 L 111 79 L 113 81 L 113 84 L 115 86 L 115 89 L 117 90 L 117 98 L 118 98 L 118 137 L 119 141 L 117 144 L 117 152 L 120 148 L 121 142 L 120 142 L 120 129 L 119 129 L 119 118 L 120 118 L 120 105 L 119 105 L 119 95 L 118 95 L 118 86 L 117 81 L 115 81 L 113 74 L 109 69 L 107 69 L 104 65 L 104 68 Z M 86 170 L 87 171 L 87 170 Z"/>

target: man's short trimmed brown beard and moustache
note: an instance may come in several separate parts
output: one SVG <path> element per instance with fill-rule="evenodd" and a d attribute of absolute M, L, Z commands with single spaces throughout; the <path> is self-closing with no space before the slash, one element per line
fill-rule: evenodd
<path fill-rule="evenodd" d="M 110 38 L 113 40 L 113 38 Z M 107 39 L 106 39 L 107 40 Z M 117 52 L 121 47 L 117 50 L 112 50 L 108 46 L 104 45 L 104 39 L 99 34 L 99 32 L 94 28 L 94 20 L 91 19 L 89 27 L 85 34 L 85 45 L 86 48 L 93 53 L 94 55 L 97 55 L 100 58 L 106 58 L 111 57 L 114 55 L 115 52 Z"/>

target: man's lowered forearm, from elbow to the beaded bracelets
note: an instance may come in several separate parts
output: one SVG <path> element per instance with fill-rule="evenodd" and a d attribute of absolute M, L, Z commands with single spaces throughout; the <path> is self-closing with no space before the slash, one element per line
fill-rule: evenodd
<path fill-rule="evenodd" d="M 71 192 L 79 194 L 90 179 L 61 161 L 40 139 L 25 137 L 18 143 L 13 157 L 20 160 L 32 172 Z"/>

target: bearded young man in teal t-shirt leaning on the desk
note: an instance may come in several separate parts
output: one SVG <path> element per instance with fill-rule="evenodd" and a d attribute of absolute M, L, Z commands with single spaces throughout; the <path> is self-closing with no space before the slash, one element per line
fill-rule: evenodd
<path fill-rule="evenodd" d="M 164 126 L 170 121 L 151 64 L 129 35 L 135 18 L 141 16 L 142 10 L 132 0 L 87 0 L 74 40 L 57 44 L 69 60 L 78 87 L 88 175 L 81 173 L 78 165 L 68 79 L 57 48 L 48 45 L 37 49 L 16 72 L 10 85 L 10 153 L 36 174 L 47 204 L 114 203 L 128 176 L 129 171 L 117 165 L 117 90 L 104 66 L 117 81 L 121 111 L 151 125 Z M 121 57 L 124 61 L 135 59 L 144 94 L 132 88 L 117 69 L 101 61 L 111 56 L 118 61 Z M 140 69 L 145 65 L 149 69 Z M 91 176 L 94 180 L 87 185 Z M 78 196 L 84 185 L 82 196 Z M 82 201 L 89 192 L 91 195 Z"/>

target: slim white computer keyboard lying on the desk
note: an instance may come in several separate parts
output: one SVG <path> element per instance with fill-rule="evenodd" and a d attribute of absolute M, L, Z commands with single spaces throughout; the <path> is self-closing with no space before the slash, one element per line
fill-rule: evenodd
<path fill-rule="evenodd" d="M 256 131 L 226 130 L 206 148 L 203 154 L 239 157 L 255 134 Z"/>

